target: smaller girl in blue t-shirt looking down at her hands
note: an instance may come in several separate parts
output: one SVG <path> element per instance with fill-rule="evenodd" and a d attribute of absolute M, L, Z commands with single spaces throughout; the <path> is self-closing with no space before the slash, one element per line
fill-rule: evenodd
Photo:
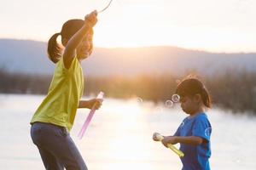
<path fill-rule="evenodd" d="M 206 107 L 211 107 L 207 88 L 196 78 L 188 78 L 177 86 L 183 111 L 188 114 L 173 136 L 165 136 L 162 144 L 180 144 L 184 156 L 182 170 L 209 170 L 211 156 L 210 137 L 212 126 L 206 115 Z M 155 135 L 154 140 L 157 140 Z"/>

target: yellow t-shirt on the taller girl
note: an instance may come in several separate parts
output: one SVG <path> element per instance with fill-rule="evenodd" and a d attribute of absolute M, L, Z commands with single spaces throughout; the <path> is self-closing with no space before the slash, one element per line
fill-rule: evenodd
<path fill-rule="evenodd" d="M 75 57 L 69 69 L 66 69 L 61 58 L 55 66 L 49 92 L 32 117 L 31 123 L 52 123 L 67 127 L 70 131 L 83 91 L 84 76 L 79 59 Z"/>

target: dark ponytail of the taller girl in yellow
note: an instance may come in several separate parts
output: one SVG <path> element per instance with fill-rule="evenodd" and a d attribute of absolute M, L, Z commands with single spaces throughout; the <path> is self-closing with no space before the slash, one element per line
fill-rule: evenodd
<path fill-rule="evenodd" d="M 48 57 L 54 63 L 57 63 L 61 58 L 62 48 L 57 42 L 57 37 L 60 35 L 61 33 L 55 33 L 48 41 Z"/>

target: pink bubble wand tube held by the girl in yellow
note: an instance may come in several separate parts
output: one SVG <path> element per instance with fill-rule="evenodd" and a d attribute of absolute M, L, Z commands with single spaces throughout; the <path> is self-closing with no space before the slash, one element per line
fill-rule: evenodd
<path fill-rule="evenodd" d="M 96 99 L 100 99 L 101 102 L 102 102 L 103 101 L 103 96 L 104 96 L 104 93 L 100 92 L 97 95 Z M 94 115 L 94 113 L 96 111 L 95 106 L 96 106 L 96 103 L 92 106 L 89 115 L 87 116 L 86 120 L 84 121 L 83 127 L 81 128 L 81 130 L 78 134 L 79 139 L 82 139 L 83 136 L 84 136 L 84 133 L 85 133 L 85 131 L 86 131 L 86 129 L 87 129 L 89 123 L 90 123 L 90 120 L 92 119 L 92 116 Z"/>

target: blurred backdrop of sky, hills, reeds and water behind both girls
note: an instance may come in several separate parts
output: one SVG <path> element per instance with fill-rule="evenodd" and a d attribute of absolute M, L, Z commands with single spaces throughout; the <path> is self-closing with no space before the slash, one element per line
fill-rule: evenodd
<path fill-rule="evenodd" d="M 1 169 L 44 169 L 29 122 L 55 68 L 47 41 L 66 20 L 108 2 L 1 2 Z M 178 157 L 151 138 L 172 135 L 183 121 L 179 104 L 168 101 L 192 75 L 212 96 L 212 169 L 255 169 L 254 8 L 253 0 L 113 0 L 98 16 L 94 52 L 82 63 L 83 98 L 103 91 L 106 99 L 84 139 L 77 133 L 89 111 L 78 111 L 71 132 L 87 166 L 181 169 Z"/>

